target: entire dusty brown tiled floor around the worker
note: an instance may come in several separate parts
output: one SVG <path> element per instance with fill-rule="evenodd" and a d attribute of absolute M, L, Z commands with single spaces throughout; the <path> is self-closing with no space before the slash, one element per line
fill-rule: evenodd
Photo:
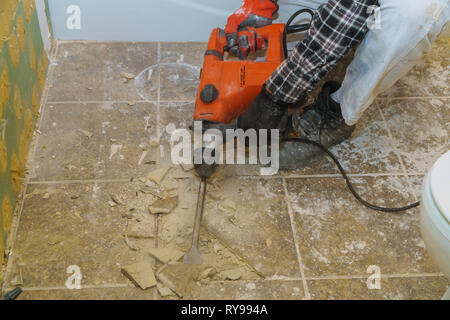
<path fill-rule="evenodd" d="M 191 123 L 204 50 L 204 43 L 57 44 L 4 292 L 21 276 L 20 299 L 161 299 L 121 267 L 148 261 L 156 270 L 161 264 L 147 249 L 188 249 L 199 181 L 169 171 L 165 181 L 179 196 L 169 214 L 150 215 L 145 197 L 130 213 L 128 202 L 145 196 L 139 178 L 167 165 L 167 126 Z M 424 174 L 450 149 L 449 61 L 450 42 L 438 40 L 333 148 L 370 202 L 418 200 Z M 200 251 L 202 268 L 217 273 L 194 277 L 184 298 L 439 299 L 447 290 L 426 252 L 419 209 L 362 207 L 327 159 L 271 177 L 257 169 L 222 168 L 209 186 Z M 111 203 L 114 195 L 126 204 Z M 81 289 L 66 287 L 72 265 Z M 374 270 L 379 288 L 368 285 L 376 284 Z"/>

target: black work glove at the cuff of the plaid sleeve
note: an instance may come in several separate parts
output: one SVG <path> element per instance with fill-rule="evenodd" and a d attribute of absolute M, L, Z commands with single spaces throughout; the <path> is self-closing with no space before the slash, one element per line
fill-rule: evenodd
<path fill-rule="evenodd" d="M 288 122 L 288 105 L 275 101 L 271 93 L 263 86 L 245 113 L 238 117 L 237 127 L 248 129 L 279 129 L 280 137 L 285 132 Z"/>

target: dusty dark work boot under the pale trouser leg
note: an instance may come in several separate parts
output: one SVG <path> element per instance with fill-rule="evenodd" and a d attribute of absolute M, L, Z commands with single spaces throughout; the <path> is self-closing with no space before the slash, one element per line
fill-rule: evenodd
<path fill-rule="evenodd" d="M 307 106 L 302 114 L 293 114 L 288 123 L 289 130 L 299 138 L 313 140 L 330 148 L 349 138 L 355 126 L 345 124 L 339 103 L 330 94 L 337 91 L 336 81 L 325 83 L 316 101 Z M 316 146 L 299 142 L 285 142 L 280 149 L 280 169 L 299 169 L 323 155 Z"/>

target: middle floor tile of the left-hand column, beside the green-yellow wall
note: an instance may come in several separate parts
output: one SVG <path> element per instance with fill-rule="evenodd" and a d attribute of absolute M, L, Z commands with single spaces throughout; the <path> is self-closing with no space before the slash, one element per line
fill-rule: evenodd
<path fill-rule="evenodd" d="M 32 179 L 129 179 L 146 173 L 157 161 L 150 143 L 156 121 L 151 103 L 47 105 Z"/>

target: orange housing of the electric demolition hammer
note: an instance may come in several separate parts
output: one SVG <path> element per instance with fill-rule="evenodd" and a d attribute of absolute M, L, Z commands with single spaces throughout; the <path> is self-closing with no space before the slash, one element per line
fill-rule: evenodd
<path fill-rule="evenodd" d="M 285 59 L 284 24 L 273 24 L 256 31 L 268 43 L 264 62 L 224 61 L 225 33 L 219 28 L 212 31 L 197 90 L 194 120 L 232 122 L 245 112 L 272 72 Z"/>

